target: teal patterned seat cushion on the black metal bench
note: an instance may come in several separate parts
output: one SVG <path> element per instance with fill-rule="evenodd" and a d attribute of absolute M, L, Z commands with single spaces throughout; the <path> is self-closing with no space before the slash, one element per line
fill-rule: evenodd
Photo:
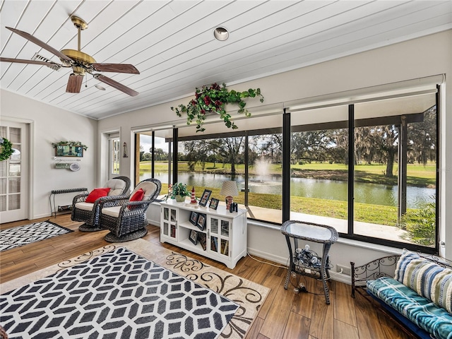
<path fill-rule="evenodd" d="M 393 278 L 367 281 L 369 293 L 396 309 L 434 338 L 452 339 L 452 315 Z"/>

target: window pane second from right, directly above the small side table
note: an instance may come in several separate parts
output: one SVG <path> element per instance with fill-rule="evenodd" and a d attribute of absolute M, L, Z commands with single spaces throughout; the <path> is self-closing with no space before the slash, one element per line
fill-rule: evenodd
<path fill-rule="evenodd" d="M 290 219 L 347 232 L 348 107 L 292 112 Z"/>

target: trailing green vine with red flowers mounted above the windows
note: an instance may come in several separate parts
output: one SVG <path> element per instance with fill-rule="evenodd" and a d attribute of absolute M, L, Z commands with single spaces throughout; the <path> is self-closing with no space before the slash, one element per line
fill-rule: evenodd
<path fill-rule="evenodd" d="M 260 97 L 260 101 L 263 102 L 263 95 L 261 89 L 255 90 L 250 88 L 244 92 L 236 92 L 235 90 L 227 90 L 226 85 L 222 86 L 213 83 L 210 87 L 203 86 L 203 88 L 196 88 L 195 98 L 189 102 L 189 105 L 179 105 L 177 107 L 171 107 L 176 112 L 178 117 L 182 117 L 182 113 L 186 113 L 186 124 L 191 124 L 191 121 L 196 122 L 196 132 L 202 132 L 206 129 L 203 128 L 206 115 L 208 113 L 216 113 L 220 115 L 220 119 L 225 121 L 225 126 L 229 129 L 237 129 L 237 125 L 231 121 L 231 115 L 226 112 L 226 104 L 234 104 L 239 106 L 237 113 L 244 113 L 246 117 L 251 117 L 251 113 L 245 108 L 246 97 Z"/>

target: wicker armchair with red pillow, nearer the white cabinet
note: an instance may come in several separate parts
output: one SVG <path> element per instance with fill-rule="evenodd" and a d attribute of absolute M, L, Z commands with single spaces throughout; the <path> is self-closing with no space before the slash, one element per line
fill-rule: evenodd
<path fill-rule="evenodd" d="M 131 201 L 139 189 L 143 189 L 144 197 L 141 201 Z M 121 204 L 110 207 L 107 202 L 100 204 L 100 227 L 110 230 L 105 236 L 107 242 L 129 242 L 144 237 L 148 230 L 146 226 L 146 210 L 155 201 L 162 189 L 158 179 L 145 179 L 136 185 L 131 198 L 122 199 Z"/>

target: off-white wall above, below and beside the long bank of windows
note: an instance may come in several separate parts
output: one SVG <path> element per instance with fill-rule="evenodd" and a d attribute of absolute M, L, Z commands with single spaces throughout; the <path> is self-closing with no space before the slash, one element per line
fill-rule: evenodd
<path fill-rule="evenodd" d="M 450 133 L 446 134 L 446 131 L 452 131 L 451 60 L 452 30 L 448 30 L 231 87 L 235 90 L 261 88 L 265 97 L 264 104 L 273 105 L 445 74 L 445 109 L 441 112 L 441 240 L 447 245 L 442 253 L 452 259 L 452 136 Z M 126 141 L 132 145 L 133 127 L 180 122 L 170 107 L 187 102 L 189 98 L 102 119 L 99 121 L 99 129 L 102 131 L 121 126 L 121 143 Z M 258 102 L 249 102 L 247 107 L 258 105 Z M 121 160 L 121 169 L 127 172 L 132 158 Z M 121 174 L 129 174 L 126 172 Z M 250 253 L 279 262 L 287 261 L 287 245 L 278 228 L 261 227 L 249 222 L 248 234 Z M 316 249 L 315 244 L 311 246 Z M 380 255 L 397 252 L 399 250 L 340 239 L 331 248 L 331 261 L 350 266 L 350 261 L 360 264 Z"/>

